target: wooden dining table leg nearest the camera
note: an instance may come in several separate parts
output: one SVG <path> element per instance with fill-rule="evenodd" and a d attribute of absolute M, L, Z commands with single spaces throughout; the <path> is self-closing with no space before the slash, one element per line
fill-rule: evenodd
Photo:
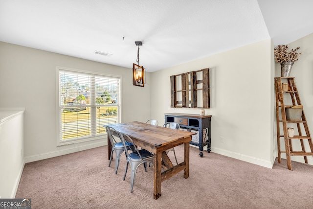
<path fill-rule="evenodd" d="M 154 180 L 153 180 L 153 198 L 156 200 L 161 196 L 161 164 L 162 155 L 161 153 L 154 154 Z"/>

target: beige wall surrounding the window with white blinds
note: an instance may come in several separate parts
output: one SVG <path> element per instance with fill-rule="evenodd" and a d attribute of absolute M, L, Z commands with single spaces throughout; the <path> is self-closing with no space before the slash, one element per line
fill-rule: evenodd
<path fill-rule="evenodd" d="M 26 163 L 100 146 L 107 141 L 56 146 L 56 66 L 122 76 L 122 121 L 145 122 L 150 118 L 150 73 L 145 87 L 139 88 L 132 85 L 131 69 L 0 42 L 0 107 L 25 108 Z"/>

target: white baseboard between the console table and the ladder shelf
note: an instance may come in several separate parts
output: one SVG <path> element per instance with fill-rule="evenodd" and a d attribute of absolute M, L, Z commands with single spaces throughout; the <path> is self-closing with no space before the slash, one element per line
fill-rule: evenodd
<path fill-rule="evenodd" d="M 257 165 L 267 167 L 267 168 L 273 168 L 273 164 L 274 164 L 274 161 L 273 162 L 265 161 L 264 159 L 259 159 L 259 158 L 251 157 L 248 155 L 243 155 L 243 154 L 236 153 L 236 152 L 230 152 L 228 150 L 214 148 L 214 147 L 211 147 L 211 152 L 221 154 L 230 158 L 235 158 L 235 159 L 245 161 L 248 163 L 257 164 Z"/>

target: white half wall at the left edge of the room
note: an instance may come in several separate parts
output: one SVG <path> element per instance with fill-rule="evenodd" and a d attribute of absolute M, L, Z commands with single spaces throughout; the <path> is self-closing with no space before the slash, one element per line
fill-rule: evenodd
<path fill-rule="evenodd" d="M 23 112 L 0 108 L 0 197 L 14 198 L 24 168 Z"/>

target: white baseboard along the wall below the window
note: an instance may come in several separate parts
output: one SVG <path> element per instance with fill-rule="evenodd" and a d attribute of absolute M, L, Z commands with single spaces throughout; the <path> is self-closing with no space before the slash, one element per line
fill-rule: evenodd
<path fill-rule="evenodd" d="M 96 147 L 104 146 L 104 145 L 107 145 L 107 140 L 102 140 L 99 142 L 89 143 L 86 145 L 75 146 L 75 147 L 52 151 L 52 152 L 41 153 L 37 155 L 26 156 L 24 158 L 24 161 L 25 163 L 30 163 L 30 162 L 40 161 L 40 160 L 44 160 L 48 158 L 61 156 L 61 155 L 67 155 L 70 153 L 79 152 L 79 151 L 83 151 L 87 149 L 92 149 L 92 148 L 96 148 Z"/>

